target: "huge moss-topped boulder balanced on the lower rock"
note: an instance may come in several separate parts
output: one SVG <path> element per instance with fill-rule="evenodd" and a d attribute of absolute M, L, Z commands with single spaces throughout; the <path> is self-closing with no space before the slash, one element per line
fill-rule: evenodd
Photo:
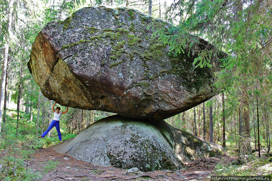
<path fill-rule="evenodd" d="M 28 67 L 44 96 L 61 105 L 165 119 L 208 100 L 213 91 L 211 69 L 195 68 L 193 61 L 214 47 L 199 39 L 170 56 L 169 47 L 152 37 L 169 27 L 133 9 L 82 8 L 41 30 Z M 211 57 L 212 69 L 218 57 Z"/>

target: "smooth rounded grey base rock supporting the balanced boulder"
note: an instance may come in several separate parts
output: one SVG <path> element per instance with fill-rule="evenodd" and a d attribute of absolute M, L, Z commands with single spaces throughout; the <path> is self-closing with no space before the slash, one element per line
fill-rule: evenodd
<path fill-rule="evenodd" d="M 91 124 L 53 149 L 94 165 L 141 171 L 181 169 L 185 161 L 224 153 L 221 146 L 165 121 L 151 124 L 120 115 Z"/>

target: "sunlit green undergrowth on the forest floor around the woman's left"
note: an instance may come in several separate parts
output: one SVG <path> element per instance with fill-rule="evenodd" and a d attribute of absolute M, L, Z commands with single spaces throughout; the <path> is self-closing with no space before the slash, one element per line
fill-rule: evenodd
<path fill-rule="evenodd" d="M 35 114 L 33 114 L 35 115 Z M 42 175 L 49 170 L 54 170 L 58 162 L 47 161 L 41 165 L 41 169 L 32 170 L 29 168 L 29 162 L 33 159 L 33 154 L 41 148 L 48 148 L 54 144 L 58 144 L 57 133 L 52 129 L 51 137 L 38 138 L 37 117 L 33 116 L 33 120 L 29 120 L 29 114 L 20 111 L 18 132 L 16 133 L 17 112 L 15 110 L 7 110 L 6 123 L 2 126 L 0 134 L 0 180 L 41 180 Z M 41 125 L 40 125 L 41 126 Z M 44 125 L 46 129 L 47 125 Z M 41 130 L 39 129 L 39 135 Z M 62 140 L 75 137 L 75 134 L 68 134 L 62 131 Z"/>

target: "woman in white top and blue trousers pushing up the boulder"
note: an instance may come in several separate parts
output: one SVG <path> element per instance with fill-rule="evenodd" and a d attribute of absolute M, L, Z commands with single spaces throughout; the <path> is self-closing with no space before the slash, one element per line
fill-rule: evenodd
<path fill-rule="evenodd" d="M 57 130 L 57 135 L 59 137 L 59 140 L 61 141 L 61 131 L 60 131 L 60 117 L 62 114 L 65 114 L 68 112 L 68 107 L 66 109 L 66 111 L 61 112 L 61 108 L 57 107 L 57 111 L 54 109 L 54 106 L 56 105 L 56 102 L 54 103 L 54 105 L 52 106 L 52 110 L 54 112 L 54 118 L 51 121 L 50 125 L 48 126 L 47 130 L 44 131 L 44 133 L 41 136 L 38 136 L 39 138 L 41 137 L 45 137 L 45 135 L 53 128 L 56 127 Z M 62 143 L 62 141 L 61 141 Z"/>

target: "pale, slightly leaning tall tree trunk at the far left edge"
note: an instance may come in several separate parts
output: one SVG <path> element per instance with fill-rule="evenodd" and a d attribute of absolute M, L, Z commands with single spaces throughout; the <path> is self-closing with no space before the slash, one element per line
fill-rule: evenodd
<path fill-rule="evenodd" d="M 11 35 L 11 21 L 12 21 L 12 11 L 13 11 L 13 4 L 15 0 L 10 0 L 8 3 L 8 22 L 7 22 L 7 29 L 8 33 L 5 34 L 5 44 L 4 44 L 4 57 L 2 63 L 2 75 L 1 75 L 1 86 L 0 86 L 0 132 L 1 132 L 1 125 L 2 125 L 2 116 L 3 116 L 3 105 L 4 105 L 4 94 L 5 94 L 5 80 L 6 80 L 6 73 L 7 73 L 7 64 L 8 64 L 8 50 L 10 44 L 10 37 Z"/>

